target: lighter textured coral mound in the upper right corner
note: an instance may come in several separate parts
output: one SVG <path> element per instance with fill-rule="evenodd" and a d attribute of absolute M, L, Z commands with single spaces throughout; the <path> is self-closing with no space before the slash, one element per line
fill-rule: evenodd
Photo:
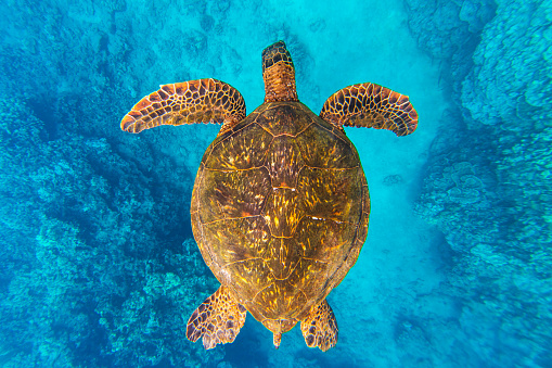
<path fill-rule="evenodd" d="M 552 118 L 550 1 L 500 1 L 482 33 L 462 104 L 477 124 L 539 132 Z"/>

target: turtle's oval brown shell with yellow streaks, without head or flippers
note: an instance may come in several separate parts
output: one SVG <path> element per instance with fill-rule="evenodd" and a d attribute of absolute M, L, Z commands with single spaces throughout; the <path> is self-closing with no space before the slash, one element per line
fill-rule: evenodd
<path fill-rule="evenodd" d="M 278 321 L 285 330 L 352 267 L 369 213 L 354 144 L 300 102 L 265 103 L 219 134 L 191 205 L 193 233 L 220 283 L 269 329 Z"/>

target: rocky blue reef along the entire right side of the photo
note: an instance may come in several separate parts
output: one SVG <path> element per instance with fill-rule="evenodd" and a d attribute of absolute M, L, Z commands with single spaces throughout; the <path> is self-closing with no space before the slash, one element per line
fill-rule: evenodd
<path fill-rule="evenodd" d="M 462 300 L 462 347 L 501 366 L 550 366 L 552 2 L 406 4 L 455 104 L 416 211 L 453 252 L 444 288 Z"/>

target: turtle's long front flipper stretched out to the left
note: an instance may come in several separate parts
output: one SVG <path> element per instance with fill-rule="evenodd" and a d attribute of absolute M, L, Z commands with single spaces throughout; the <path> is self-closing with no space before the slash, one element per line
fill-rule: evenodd
<path fill-rule="evenodd" d="M 217 79 L 163 85 L 144 97 L 120 122 L 120 128 L 140 132 L 159 125 L 224 123 L 245 118 L 245 102 L 232 86 Z"/>

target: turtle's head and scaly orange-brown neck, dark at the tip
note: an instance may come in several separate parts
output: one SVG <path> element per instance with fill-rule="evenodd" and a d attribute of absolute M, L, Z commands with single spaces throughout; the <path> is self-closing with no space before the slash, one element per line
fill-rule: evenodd
<path fill-rule="evenodd" d="M 284 41 L 262 50 L 265 102 L 299 101 L 295 90 L 295 67 Z"/>

